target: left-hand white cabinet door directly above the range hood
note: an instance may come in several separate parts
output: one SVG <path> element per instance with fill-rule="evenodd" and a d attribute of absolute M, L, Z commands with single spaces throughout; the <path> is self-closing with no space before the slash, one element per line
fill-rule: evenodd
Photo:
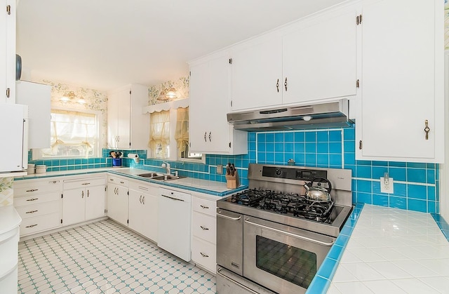
<path fill-rule="evenodd" d="M 280 105 L 282 41 L 272 37 L 232 52 L 232 110 Z M 276 84 L 279 81 L 279 91 Z"/>

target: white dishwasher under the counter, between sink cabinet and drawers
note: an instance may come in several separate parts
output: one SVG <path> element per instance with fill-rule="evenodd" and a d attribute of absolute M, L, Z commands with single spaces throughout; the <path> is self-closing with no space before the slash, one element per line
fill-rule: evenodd
<path fill-rule="evenodd" d="M 157 246 L 190 261 L 192 196 L 166 188 L 159 188 L 159 194 Z"/>

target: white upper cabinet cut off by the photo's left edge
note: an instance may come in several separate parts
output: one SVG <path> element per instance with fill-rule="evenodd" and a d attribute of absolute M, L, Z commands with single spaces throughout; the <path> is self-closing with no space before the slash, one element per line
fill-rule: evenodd
<path fill-rule="evenodd" d="M 15 103 L 15 0 L 2 0 L 0 13 L 0 103 Z"/>

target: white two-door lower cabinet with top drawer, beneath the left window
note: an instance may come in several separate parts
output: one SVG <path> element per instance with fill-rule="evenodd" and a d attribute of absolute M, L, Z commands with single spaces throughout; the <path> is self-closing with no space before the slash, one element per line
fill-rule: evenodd
<path fill-rule="evenodd" d="M 62 225 L 105 216 L 105 178 L 64 180 Z"/>

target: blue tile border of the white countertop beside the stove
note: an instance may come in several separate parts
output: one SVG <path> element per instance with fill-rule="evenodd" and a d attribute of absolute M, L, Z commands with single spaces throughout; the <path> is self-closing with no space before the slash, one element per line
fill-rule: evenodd
<path fill-rule="evenodd" d="M 354 227 L 356 226 L 358 217 L 363 209 L 364 203 L 357 203 L 344 223 L 344 226 L 335 240 L 334 245 L 330 248 L 328 255 L 319 267 L 314 279 L 311 281 L 306 293 L 325 294 L 328 291 L 330 282 L 337 271 L 338 264 L 342 258 L 344 248 L 346 248 Z"/>

